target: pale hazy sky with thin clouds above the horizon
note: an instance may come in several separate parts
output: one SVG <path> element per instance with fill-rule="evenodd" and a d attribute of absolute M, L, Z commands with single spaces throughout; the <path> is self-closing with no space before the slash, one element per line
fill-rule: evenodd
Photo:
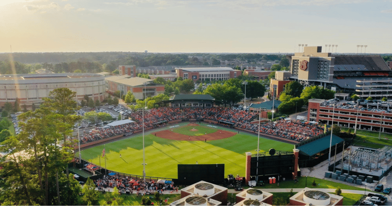
<path fill-rule="evenodd" d="M 0 0 L 0 52 L 392 53 L 391 20 L 392 0 Z"/>

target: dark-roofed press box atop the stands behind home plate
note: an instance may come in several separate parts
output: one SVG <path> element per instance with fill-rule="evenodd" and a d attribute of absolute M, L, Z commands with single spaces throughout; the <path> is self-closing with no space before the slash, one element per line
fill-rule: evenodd
<path fill-rule="evenodd" d="M 159 107 L 170 105 L 172 108 L 211 108 L 221 102 L 209 94 L 176 94 L 169 100 L 155 103 Z"/>

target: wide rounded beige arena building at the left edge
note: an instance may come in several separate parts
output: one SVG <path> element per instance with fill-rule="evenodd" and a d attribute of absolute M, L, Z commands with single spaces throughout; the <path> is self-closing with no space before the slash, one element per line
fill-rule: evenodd
<path fill-rule="evenodd" d="M 0 107 L 6 102 L 13 104 L 18 98 L 21 107 L 26 105 L 27 109 L 32 109 L 33 104 L 39 106 L 50 91 L 63 87 L 75 91 L 78 100 L 87 95 L 102 101 L 104 80 L 103 75 L 89 73 L 0 75 Z"/>

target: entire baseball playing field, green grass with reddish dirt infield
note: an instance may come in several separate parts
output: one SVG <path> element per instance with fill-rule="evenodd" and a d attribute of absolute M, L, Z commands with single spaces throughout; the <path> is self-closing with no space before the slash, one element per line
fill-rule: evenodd
<path fill-rule="evenodd" d="M 144 133 L 146 176 L 177 178 L 178 164 L 225 164 L 226 174 L 245 175 L 245 153 L 256 153 L 257 135 L 211 124 L 171 124 Z M 143 136 L 81 151 L 82 159 L 107 169 L 143 174 Z M 293 145 L 260 136 L 260 152 L 271 148 L 292 151 Z"/>

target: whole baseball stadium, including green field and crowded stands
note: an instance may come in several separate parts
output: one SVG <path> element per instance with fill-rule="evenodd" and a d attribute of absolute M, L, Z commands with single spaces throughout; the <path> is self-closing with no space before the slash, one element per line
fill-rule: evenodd
<path fill-rule="evenodd" d="M 211 97 L 206 99 L 211 100 Z M 204 101 L 200 97 L 197 100 Z M 107 125 L 83 134 L 79 142 L 83 162 L 80 164 L 91 172 L 94 167 L 94 171 L 97 171 L 94 175 L 121 174 L 141 179 L 144 158 L 146 178 L 156 180 L 178 180 L 180 172 L 183 172 L 178 171 L 178 168 L 184 168 L 180 165 L 218 167 L 223 164 L 223 180 L 223 176 L 229 174 L 258 176 L 255 166 L 247 168 L 246 159 L 248 155 L 252 155 L 252 158 L 257 156 L 259 148 L 260 156 L 272 156 L 275 151 L 278 154 L 275 155 L 276 158 L 288 155 L 285 159 L 288 161 L 285 173 L 287 177 L 291 177 L 295 170 L 292 164 L 295 146 L 303 147 L 303 142 L 320 139 L 325 135 L 324 129 L 317 124 L 282 119 L 259 127 L 259 115 L 256 112 L 218 106 L 204 107 L 204 104 L 195 103 L 195 100 L 186 101 L 188 103 L 179 104 L 176 108 L 169 106 L 136 111 L 130 115 L 132 120 L 117 121 L 119 124 Z M 274 154 L 268 154 L 272 148 Z M 318 149 L 326 148 L 319 146 Z M 316 157 L 318 155 L 320 152 L 307 158 L 316 160 L 320 158 Z M 253 162 L 251 165 L 254 165 Z M 275 165 L 281 163 L 279 160 L 274 162 Z M 89 168 L 86 169 L 86 165 Z M 271 167 L 271 164 L 265 165 L 266 171 Z M 206 170 L 206 173 L 212 172 L 211 168 Z M 217 171 L 212 174 L 214 172 Z"/>

